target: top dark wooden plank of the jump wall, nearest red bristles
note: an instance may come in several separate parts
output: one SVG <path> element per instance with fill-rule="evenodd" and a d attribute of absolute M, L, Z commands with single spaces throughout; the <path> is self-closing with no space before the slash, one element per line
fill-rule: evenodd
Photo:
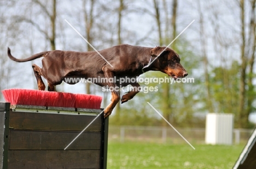
<path fill-rule="evenodd" d="M 20 130 L 82 131 L 95 117 L 10 111 L 9 128 Z M 86 131 L 101 131 L 101 117 L 98 117 Z"/>

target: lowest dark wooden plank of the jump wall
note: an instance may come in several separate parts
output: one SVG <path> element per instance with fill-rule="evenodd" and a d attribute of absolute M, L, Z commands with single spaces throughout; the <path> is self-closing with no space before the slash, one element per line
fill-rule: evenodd
<path fill-rule="evenodd" d="M 9 150 L 8 169 L 100 168 L 100 150 Z"/>

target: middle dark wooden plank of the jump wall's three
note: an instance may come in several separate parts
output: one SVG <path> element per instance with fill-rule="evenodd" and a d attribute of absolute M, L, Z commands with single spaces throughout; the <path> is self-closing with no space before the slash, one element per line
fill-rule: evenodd
<path fill-rule="evenodd" d="M 63 150 L 79 132 L 10 130 L 9 150 Z M 100 132 L 83 132 L 70 149 L 100 149 Z"/>

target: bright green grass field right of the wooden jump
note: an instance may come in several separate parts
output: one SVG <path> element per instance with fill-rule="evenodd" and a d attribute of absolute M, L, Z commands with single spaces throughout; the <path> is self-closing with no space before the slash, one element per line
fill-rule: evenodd
<path fill-rule="evenodd" d="M 244 145 L 115 143 L 108 145 L 108 168 L 225 169 L 234 166 Z"/>

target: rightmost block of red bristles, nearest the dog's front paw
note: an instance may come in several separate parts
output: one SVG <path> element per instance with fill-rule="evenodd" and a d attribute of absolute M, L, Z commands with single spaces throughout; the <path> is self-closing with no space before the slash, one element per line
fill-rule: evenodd
<path fill-rule="evenodd" d="M 75 107 L 76 108 L 101 108 L 102 96 L 90 94 L 75 94 Z"/>

